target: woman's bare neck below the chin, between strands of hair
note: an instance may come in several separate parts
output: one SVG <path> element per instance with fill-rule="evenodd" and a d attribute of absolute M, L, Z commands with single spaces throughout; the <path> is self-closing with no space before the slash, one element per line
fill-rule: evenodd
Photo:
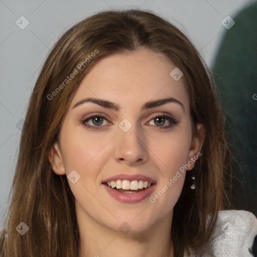
<path fill-rule="evenodd" d="M 171 216 L 145 231 L 125 234 L 100 225 L 85 213 L 77 214 L 79 257 L 173 257 Z"/>

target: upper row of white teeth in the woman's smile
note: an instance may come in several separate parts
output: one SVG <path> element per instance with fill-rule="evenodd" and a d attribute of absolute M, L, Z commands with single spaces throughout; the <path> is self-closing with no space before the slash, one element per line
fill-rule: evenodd
<path fill-rule="evenodd" d="M 143 189 L 143 188 L 148 188 L 151 186 L 151 183 L 148 181 L 143 181 L 143 180 L 116 180 L 116 181 L 109 181 L 108 186 L 111 188 L 116 188 L 116 189 L 124 189 L 124 190 L 138 190 L 138 189 Z"/>

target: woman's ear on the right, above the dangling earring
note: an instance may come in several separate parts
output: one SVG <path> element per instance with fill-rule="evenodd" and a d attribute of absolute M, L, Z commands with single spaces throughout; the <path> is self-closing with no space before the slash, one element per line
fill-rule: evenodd
<path fill-rule="evenodd" d="M 201 149 L 205 140 L 205 127 L 203 126 L 203 124 L 198 123 L 196 127 L 197 127 L 196 135 L 194 136 L 194 138 L 192 138 L 191 146 L 189 149 L 188 160 L 187 160 L 187 163 L 193 162 L 193 165 L 198 159 L 198 157 L 200 156 L 199 153 L 201 152 Z M 195 156 L 197 156 L 197 158 L 195 158 Z M 191 167 L 187 170 L 188 171 L 192 170 L 194 168 L 193 165 L 191 165 Z"/>

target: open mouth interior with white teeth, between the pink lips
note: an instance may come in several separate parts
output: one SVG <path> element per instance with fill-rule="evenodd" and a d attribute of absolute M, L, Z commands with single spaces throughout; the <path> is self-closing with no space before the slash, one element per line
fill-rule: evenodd
<path fill-rule="evenodd" d="M 139 193 L 153 186 L 153 183 L 144 180 L 116 180 L 103 183 L 104 185 L 120 193 Z"/>

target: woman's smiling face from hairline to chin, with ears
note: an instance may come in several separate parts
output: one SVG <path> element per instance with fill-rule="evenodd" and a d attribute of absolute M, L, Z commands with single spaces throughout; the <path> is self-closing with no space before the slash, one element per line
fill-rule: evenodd
<path fill-rule="evenodd" d="M 102 59 L 82 80 L 49 154 L 54 172 L 68 176 L 78 219 L 131 232 L 171 223 L 181 167 L 203 143 L 192 137 L 189 96 L 174 68 L 141 49 Z"/>

